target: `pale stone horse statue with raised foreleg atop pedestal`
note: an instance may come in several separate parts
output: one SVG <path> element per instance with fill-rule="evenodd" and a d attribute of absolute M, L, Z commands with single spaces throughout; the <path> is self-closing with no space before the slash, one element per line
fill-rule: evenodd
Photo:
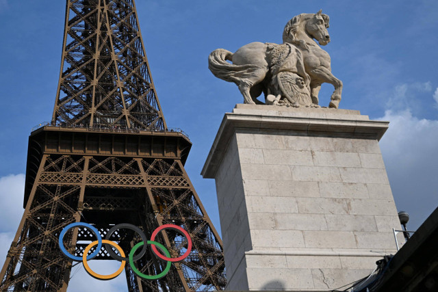
<path fill-rule="evenodd" d="M 263 92 L 267 104 L 320 107 L 321 84 L 331 83 L 335 91 L 329 107 L 337 108 L 342 81 L 331 73 L 329 53 L 315 42 L 322 46 L 330 42 L 327 28 L 329 16 L 322 10 L 297 15 L 285 25 L 283 44 L 251 42 L 235 53 L 217 49 L 209 55 L 209 69 L 214 76 L 234 82 L 244 103 L 263 104 L 257 100 Z"/>

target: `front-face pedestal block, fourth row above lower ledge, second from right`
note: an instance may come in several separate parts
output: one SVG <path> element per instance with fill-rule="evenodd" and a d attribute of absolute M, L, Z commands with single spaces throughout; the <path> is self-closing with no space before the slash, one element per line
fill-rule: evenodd
<path fill-rule="evenodd" d="M 365 183 L 318 183 L 323 198 L 369 198 Z"/>

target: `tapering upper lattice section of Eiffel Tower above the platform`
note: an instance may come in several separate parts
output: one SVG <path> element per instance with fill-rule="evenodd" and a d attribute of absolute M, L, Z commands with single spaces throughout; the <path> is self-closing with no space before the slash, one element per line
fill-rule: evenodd
<path fill-rule="evenodd" d="M 133 0 L 67 1 L 52 124 L 164 130 Z"/>

